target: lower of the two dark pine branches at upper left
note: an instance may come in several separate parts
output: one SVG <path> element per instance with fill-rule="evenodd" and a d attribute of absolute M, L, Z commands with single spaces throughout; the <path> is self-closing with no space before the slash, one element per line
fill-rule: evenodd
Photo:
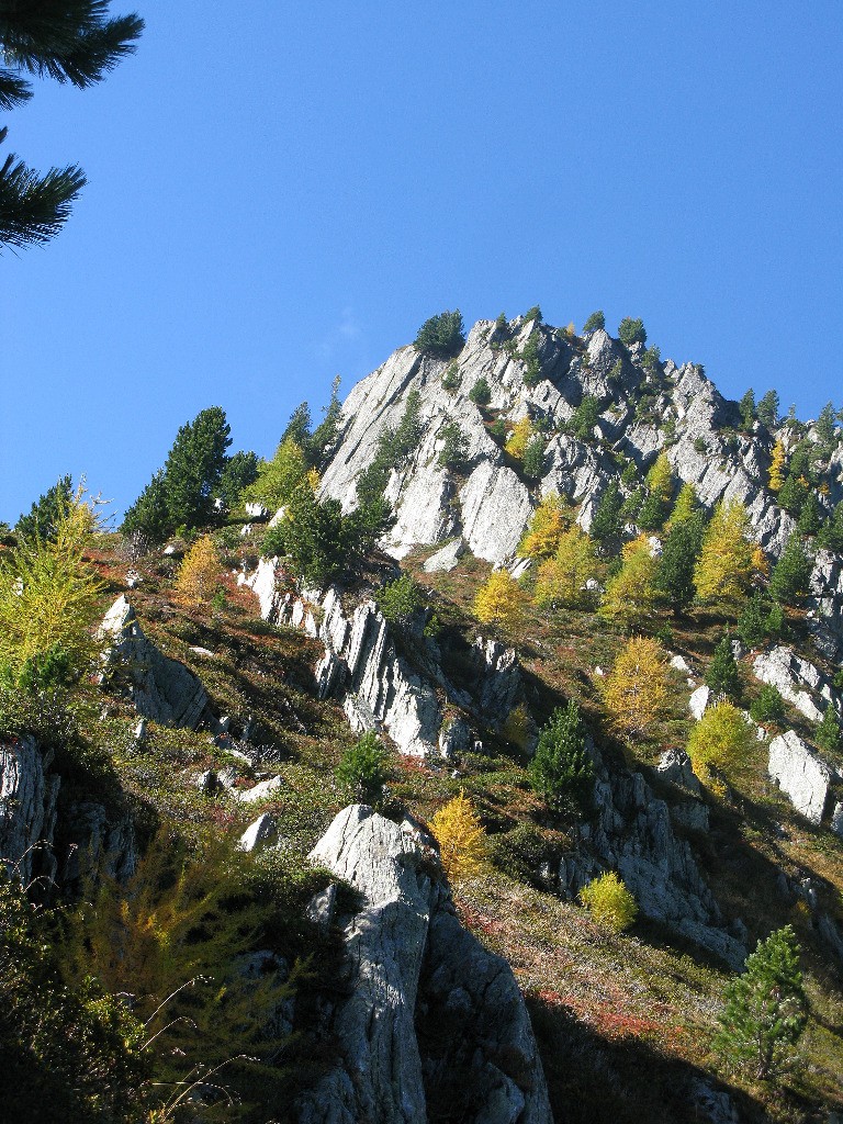
<path fill-rule="evenodd" d="M 54 237 L 84 183 L 76 164 L 39 175 L 15 155 L 7 156 L 0 167 L 0 245 L 38 245 Z"/>

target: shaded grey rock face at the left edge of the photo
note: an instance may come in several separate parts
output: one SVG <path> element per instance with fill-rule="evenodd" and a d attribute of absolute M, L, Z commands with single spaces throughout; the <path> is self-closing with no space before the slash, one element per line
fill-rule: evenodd
<path fill-rule="evenodd" d="M 52 842 L 61 779 L 31 737 L 0 744 L 0 861 L 28 886 L 55 874 Z"/>

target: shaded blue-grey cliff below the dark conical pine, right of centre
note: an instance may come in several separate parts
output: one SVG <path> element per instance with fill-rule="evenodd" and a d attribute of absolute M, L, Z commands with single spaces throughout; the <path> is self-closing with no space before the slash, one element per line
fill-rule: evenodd
<path fill-rule="evenodd" d="M 740 968 L 746 949 L 722 927 L 717 903 L 690 844 L 674 835 L 665 801 L 653 794 L 642 773 L 616 767 L 609 772 L 593 746 L 591 754 L 597 817 L 580 826 L 581 850 L 562 863 L 560 879 L 568 892 L 575 896 L 602 870 L 617 870 L 643 914 Z M 682 758 L 664 762 L 665 779 L 695 797 L 692 771 L 689 778 L 689 763 Z M 699 821 L 701 825 L 701 816 Z"/>

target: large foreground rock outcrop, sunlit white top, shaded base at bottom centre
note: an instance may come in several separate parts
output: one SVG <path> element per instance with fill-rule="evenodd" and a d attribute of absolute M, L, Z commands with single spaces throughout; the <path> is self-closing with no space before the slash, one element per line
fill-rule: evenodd
<path fill-rule="evenodd" d="M 326 1013 L 325 1032 L 338 1059 L 300 1098 L 299 1124 L 426 1124 L 428 1108 L 451 1097 L 466 1124 L 551 1124 L 515 978 L 460 925 L 447 888 L 432 879 L 430 841 L 354 805 L 311 858 L 348 881 L 361 906 L 334 918 L 347 994 Z"/>

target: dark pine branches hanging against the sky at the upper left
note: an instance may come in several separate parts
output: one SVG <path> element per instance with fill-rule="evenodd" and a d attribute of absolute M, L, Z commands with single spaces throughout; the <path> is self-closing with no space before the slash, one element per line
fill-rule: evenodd
<path fill-rule="evenodd" d="M 48 75 L 83 90 L 101 81 L 135 49 L 143 30 L 135 15 L 108 19 L 108 0 L 0 4 L 0 108 L 33 96 L 22 73 Z M 0 143 L 7 129 L 0 128 Z M 49 241 L 70 215 L 85 184 L 76 164 L 45 175 L 9 154 L 0 165 L 0 245 L 22 247 Z"/>

